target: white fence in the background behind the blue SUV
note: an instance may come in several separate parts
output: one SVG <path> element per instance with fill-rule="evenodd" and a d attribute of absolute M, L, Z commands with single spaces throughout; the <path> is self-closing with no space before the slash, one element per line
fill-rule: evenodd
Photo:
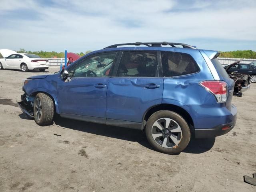
<path fill-rule="evenodd" d="M 49 58 L 49 65 L 50 66 L 60 66 L 61 62 L 62 65 L 65 64 L 65 58 Z M 68 60 L 68 59 L 67 59 Z M 229 65 L 232 64 L 233 62 L 240 60 L 240 58 L 222 58 L 222 57 L 218 57 L 218 60 L 220 61 L 220 63 L 225 66 L 225 65 Z M 245 64 L 249 64 L 251 62 L 256 61 L 256 59 L 244 59 L 242 61 L 242 63 Z"/>

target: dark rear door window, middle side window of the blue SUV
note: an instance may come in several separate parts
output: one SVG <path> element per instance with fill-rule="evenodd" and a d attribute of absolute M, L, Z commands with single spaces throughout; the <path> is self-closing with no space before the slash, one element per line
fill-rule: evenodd
<path fill-rule="evenodd" d="M 119 77 L 158 77 L 156 52 L 124 51 L 118 66 Z"/>

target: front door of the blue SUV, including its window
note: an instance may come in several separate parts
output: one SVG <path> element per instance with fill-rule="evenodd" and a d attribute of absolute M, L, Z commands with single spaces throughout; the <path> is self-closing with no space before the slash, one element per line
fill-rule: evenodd
<path fill-rule="evenodd" d="M 80 119 L 84 117 L 85 120 L 85 116 L 106 118 L 106 93 L 116 54 L 94 54 L 67 68 L 72 76 L 71 80 L 65 82 L 60 79 L 58 83 L 61 116 L 70 115 L 71 118 Z"/>

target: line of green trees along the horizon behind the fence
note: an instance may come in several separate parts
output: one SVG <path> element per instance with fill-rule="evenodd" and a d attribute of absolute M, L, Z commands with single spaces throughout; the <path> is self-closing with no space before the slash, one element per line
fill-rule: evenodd
<path fill-rule="evenodd" d="M 86 52 L 80 52 L 77 53 L 81 57 L 84 56 L 85 54 L 88 54 L 92 52 L 91 50 L 88 50 Z M 25 49 L 20 49 L 17 51 L 17 53 L 29 53 L 29 54 L 35 54 L 38 55 L 42 58 L 64 58 L 65 53 L 64 52 L 48 52 L 48 51 L 26 51 Z M 221 52 L 220 51 L 220 56 L 219 57 L 228 57 L 228 58 L 250 58 L 250 59 L 256 59 L 256 52 L 252 50 L 237 50 L 237 51 L 225 51 Z"/>

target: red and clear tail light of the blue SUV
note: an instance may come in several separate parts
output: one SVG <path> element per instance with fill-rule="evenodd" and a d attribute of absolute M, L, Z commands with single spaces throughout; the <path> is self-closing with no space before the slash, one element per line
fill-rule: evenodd
<path fill-rule="evenodd" d="M 228 96 L 228 85 L 224 81 L 203 81 L 200 85 L 212 93 L 218 103 L 226 102 Z"/>

